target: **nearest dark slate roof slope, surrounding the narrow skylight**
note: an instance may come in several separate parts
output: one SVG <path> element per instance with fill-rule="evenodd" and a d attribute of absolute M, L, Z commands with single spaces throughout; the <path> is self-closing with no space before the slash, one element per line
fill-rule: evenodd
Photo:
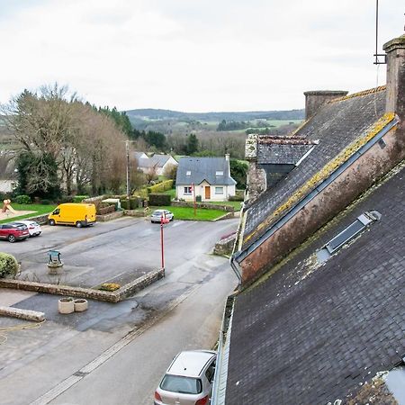
<path fill-rule="evenodd" d="M 404 166 L 290 254 L 274 275 L 238 294 L 226 404 L 333 403 L 401 362 Z M 381 220 L 314 266 L 317 249 L 372 210 Z"/>

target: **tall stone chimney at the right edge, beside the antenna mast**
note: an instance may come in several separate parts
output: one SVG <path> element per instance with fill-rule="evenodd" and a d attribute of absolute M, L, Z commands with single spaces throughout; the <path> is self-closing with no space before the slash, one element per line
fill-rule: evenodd
<path fill-rule="evenodd" d="M 405 129 L 405 34 L 384 44 L 387 54 L 386 112 L 395 112 Z"/>

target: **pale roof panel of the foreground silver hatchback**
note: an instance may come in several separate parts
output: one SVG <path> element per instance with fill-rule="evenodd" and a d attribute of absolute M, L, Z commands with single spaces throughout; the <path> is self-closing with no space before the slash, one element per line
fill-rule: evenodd
<path fill-rule="evenodd" d="M 198 377 L 204 366 L 213 356 L 216 356 L 216 353 L 209 350 L 181 352 L 175 357 L 175 360 L 167 370 L 167 374 Z"/>

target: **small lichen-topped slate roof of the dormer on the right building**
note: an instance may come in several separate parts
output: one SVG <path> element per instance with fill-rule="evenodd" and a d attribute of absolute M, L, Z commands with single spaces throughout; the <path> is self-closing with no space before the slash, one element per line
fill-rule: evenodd
<path fill-rule="evenodd" d="M 259 137 L 259 165 L 295 165 L 316 144 L 316 141 L 295 137 Z"/>

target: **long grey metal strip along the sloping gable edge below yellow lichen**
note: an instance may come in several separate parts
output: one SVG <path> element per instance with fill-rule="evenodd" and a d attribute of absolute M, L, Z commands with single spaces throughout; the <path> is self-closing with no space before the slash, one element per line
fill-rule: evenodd
<path fill-rule="evenodd" d="M 375 135 L 373 139 L 370 139 L 368 142 L 365 143 L 365 145 L 359 148 L 351 157 L 347 159 L 345 163 L 339 166 L 331 175 L 329 175 L 328 178 L 326 178 L 321 184 L 315 187 L 311 191 L 311 193 L 309 193 L 301 202 L 297 202 L 290 211 L 287 211 L 284 216 L 280 220 L 277 220 L 271 228 L 267 229 L 260 238 L 258 238 L 244 250 L 239 250 L 238 252 L 234 253 L 229 259 L 230 266 L 232 266 L 232 268 L 234 268 L 234 266 L 236 267 L 235 262 L 237 262 L 237 264 L 239 265 L 247 256 L 254 252 L 257 247 L 260 247 L 263 242 L 270 238 L 276 230 L 284 227 L 285 223 L 291 220 L 298 211 L 301 211 L 302 208 L 308 204 L 308 202 L 311 202 L 311 200 L 314 199 L 318 194 L 320 194 L 326 187 L 328 187 L 329 184 L 333 183 L 339 175 L 345 172 L 348 166 L 351 166 L 359 157 L 363 156 L 365 152 L 372 148 L 380 139 L 382 139 L 389 130 L 392 130 L 392 128 L 398 122 L 399 120 L 397 118 L 394 118 L 392 121 L 387 123 L 383 130 L 380 130 L 380 132 L 378 132 L 378 134 Z"/>

